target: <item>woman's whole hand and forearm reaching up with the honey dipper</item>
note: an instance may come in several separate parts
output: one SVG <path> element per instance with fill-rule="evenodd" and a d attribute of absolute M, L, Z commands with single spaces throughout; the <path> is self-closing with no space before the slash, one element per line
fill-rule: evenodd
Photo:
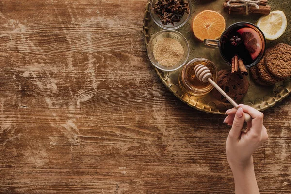
<path fill-rule="evenodd" d="M 226 140 L 226 155 L 234 175 L 236 194 L 259 194 L 252 154 L 268 139 L 267 129 L 263 125 L 263 113 L 246 105 L 239 105 L 226 111 L 225 123 L 232 125 Z M 253 118 L 242 131 L 244 113 Z"/>

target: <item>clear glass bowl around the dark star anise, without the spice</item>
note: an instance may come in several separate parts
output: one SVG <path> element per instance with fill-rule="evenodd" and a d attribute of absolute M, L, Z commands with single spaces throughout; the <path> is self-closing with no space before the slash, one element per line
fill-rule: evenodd
<path fill-rule="evenodd" d="M 190 0 L 185 0 L 186 2 L 189 3 L 189 14 L 187 14 L 186 12 L 184 13 L 184 16 L 181 18 L 181 21 L 179 22 L 175 22 L 174 26 L 172 24 L 168 24 L 168 25 L 163 25 L 159 16 L 157 14 L 154 13 L 154 7 L 155 4 L 158 0 L 151 0 L 150 1 L 150 5 L 149 5 L 149 12 L 150 12 L 150 16 L 151 18 L 154 20 L 154 22 L 160 26 L 162 29 L 166 29 L 166 30 L 176 30 L 182 26 L 184 26 L 187 21 L 189 20 L 190 16 L 191 16 L 191 2 Z"/>

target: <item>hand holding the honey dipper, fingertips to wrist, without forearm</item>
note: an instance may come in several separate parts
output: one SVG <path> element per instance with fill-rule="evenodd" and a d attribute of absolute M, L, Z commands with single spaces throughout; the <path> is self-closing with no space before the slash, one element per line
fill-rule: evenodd
<path fill-rule="evenodd" d="M 230 109 L 225 123 L 232 125 L 226 141 L 226 154 L 230 167 L 243 167 L 250 161 L 254 151 L 268 140 L 267 129 L 263 125 L 264 114 L 256 109 L 239 105 L 239 109 Z M 247 129 L 242 132 L 244 113 L 253 118 L 247 123 Z"/>

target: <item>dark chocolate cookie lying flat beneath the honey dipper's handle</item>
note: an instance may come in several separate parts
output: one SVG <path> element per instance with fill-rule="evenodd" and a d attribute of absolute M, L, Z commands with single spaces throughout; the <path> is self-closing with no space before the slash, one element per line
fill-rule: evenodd
<path fill-rule="evenodd" d="M 234 101 L 240 101 L 247 93 L 249 87 L 249 81 L 246 76 L 241 74 L 231 74 L 231 70 L 222 70 L 218 72 L 217 85 L 226 92 Z M 213 96 L 225 103 L 229 103 L 228 100 L 218 92 L 218 90 L 212 90 Z"/>

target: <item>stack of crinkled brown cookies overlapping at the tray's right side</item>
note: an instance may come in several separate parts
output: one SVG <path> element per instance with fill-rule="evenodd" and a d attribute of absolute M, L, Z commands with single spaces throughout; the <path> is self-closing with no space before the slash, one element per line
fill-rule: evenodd
<path fill-rule="evenodd" d="M 291 76 L 291 46 L 277 44 L 266 50 L 265 57 L 250 69 L 253 80 L 260 85 L 273 85 Z"/>

